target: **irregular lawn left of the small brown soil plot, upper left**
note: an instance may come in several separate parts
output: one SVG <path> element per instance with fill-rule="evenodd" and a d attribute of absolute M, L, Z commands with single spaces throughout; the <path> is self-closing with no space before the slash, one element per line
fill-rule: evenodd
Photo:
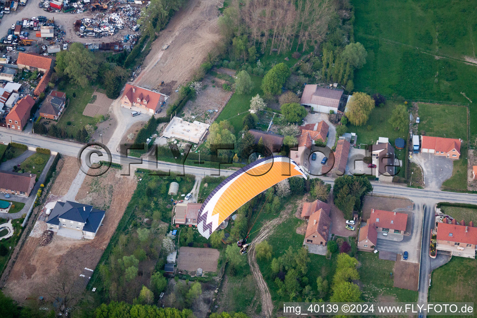
<path fill-rule="evenodd" d="M 57 125 L 65 128 L 68 136 L 74 138 L 76 131 L 83 129 L 85 125 L 91 124 L 94 126 L 96 124 L 96 120 L 93 117 L 83 115 L 86 104 L 92 100 L 94 90 L 91 86 L 83 88 L 81 86 L 67 84 L 64 89 L 62 88 L 62 92 L 66 92 L 69 103 L 58 120 Z M 73 92 L 76 93 L 76 97 L 73 97 Z M 71 122 L 71 125 L 68 125 L 68 122 Z"/>

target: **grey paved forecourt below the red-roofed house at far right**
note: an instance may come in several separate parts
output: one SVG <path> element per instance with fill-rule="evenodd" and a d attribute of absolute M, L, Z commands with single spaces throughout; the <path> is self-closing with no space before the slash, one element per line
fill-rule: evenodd
<path fill-rule="evenodd" d="M 411 162 L 422 167 L 425 189 L 440 189 L 442 183 L 451 177 L 454 168 L 452 159 L 434 154 L 413 154 Z"/>

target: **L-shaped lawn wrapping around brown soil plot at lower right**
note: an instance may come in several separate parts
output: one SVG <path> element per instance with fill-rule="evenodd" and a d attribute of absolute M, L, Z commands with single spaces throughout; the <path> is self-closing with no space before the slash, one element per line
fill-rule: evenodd
<path fill-rule="evenodd" d="M 378 254 L 370 252 L 358 252 L 357 259 L 361 263 L 359 273 L 364 301 L 380 301 L 380 296 L 394 297 L 397 302 L 417 301 L 417 291 L 393 287 L 390 273 L 395 262 L 379 259 Z"/>

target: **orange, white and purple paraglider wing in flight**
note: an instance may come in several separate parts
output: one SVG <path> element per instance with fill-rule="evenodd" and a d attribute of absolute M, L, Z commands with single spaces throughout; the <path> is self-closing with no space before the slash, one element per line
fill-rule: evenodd
<path fill-rule="evenodd" d="M 287 178 L 306 175 L 286 156 L 257 160 L 228 176 L 207 197 L 197 216 L 199 233 L 208 238 L 235 210 L 254 196 Z"/>

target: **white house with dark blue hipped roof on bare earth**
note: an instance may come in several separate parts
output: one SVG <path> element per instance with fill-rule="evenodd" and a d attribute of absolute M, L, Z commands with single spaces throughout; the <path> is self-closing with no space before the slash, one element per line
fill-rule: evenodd
<path fill-rule="evenodd" d="M 72 201 L 56 202 L 46 225 L 58 235 L 93 239 L 104 219 L 104 211 Z"/>

